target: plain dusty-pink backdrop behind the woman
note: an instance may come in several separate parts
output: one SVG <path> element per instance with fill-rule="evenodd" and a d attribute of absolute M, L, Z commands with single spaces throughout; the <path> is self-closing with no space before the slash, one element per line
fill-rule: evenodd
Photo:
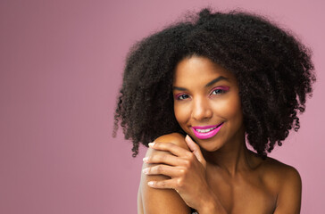
<path fill-rule="evenodd" d="M 0 2 L 0 213 L 136 213 L 145 149 L 131 157 L 112 116 L 137 40 L 212 5 L 265 14 L 312 47 L 318 71 L 302 128 L 271 157 L 303 178 L 302 213 L 325 213 L 325 4 L 313 1 Z"/>

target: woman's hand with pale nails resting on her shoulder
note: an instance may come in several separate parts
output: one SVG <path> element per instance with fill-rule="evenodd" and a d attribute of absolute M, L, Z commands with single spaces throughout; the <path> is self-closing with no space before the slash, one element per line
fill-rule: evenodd
<path fill-rule="evenodd" d="M 153 156 L 144 159 L 147 163 L 157 164 L 154 167 L 143 169 L 146 175 L 164 175 L 171 179 L 151 181 L 151 187 L 160 189 L 175 189 L 187 206 L 199 212 L 212 208 L 218 204 L 206 181 L 206 161 L 193 140 L 185 138 L 190 151 L 171 143 L 151 143 L 149 146 L 157 151 Z M 169 152 L 169 153 L 166 153 Z"/>

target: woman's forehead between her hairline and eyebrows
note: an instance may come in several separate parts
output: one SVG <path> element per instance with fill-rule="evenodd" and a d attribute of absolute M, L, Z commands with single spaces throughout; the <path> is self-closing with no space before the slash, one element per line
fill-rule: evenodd
<path fill-rule="evenodd" d="M 218 77 L 228 78 L 229 82 L 237 83 L 236 77 L 229 70 L 203 56 L 191 56 L 181 60 L 175 69 L 173 85 L 208 82 Z"/>

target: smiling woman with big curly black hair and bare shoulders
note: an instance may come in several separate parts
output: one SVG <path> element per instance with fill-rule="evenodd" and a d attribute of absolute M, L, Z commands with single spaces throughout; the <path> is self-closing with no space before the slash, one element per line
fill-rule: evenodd
<path fill-rule="evenodd" d="M 204 9 L 137 43 L 114 129 L 134 156 L 149 146 L 137 212 L 299 213 L 299 173 L 267 152 L 300 128 L 312 71 L 295 37 L 245 12 Z"/>

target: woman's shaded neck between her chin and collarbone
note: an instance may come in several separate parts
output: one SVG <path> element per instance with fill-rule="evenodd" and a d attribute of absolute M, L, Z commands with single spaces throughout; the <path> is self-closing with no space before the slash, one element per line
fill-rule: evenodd
<path fill-rule="evenodd" d="M 235 176 L 240 170 L 252 169 L 253 152 L 246 147 L 245 134 L 239 136 L 215 152 L 203 151 L 205 160 L 226 170 L 230 176 Z"/>

